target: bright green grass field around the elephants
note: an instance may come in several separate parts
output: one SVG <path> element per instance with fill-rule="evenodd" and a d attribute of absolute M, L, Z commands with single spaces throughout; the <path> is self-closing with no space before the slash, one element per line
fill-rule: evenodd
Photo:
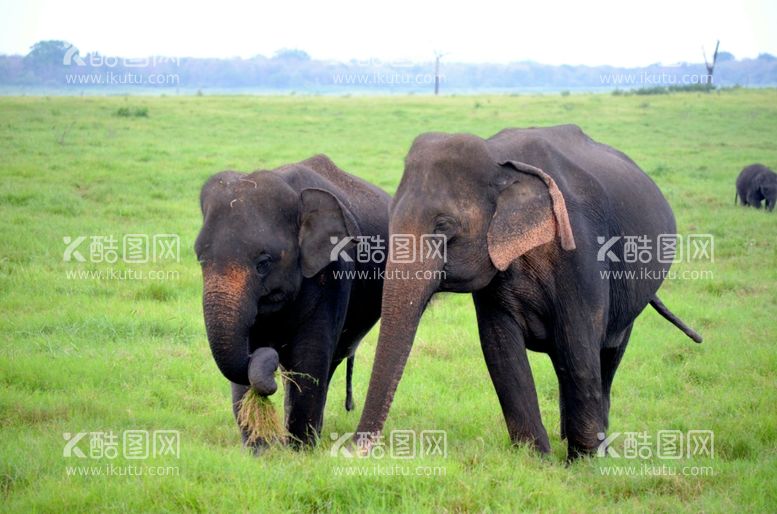
<path fill-rule="evenodd" d="M 118 115 L 122 108 L 130 116 Z M 133 115 L 143 109 L 146 116 Z M 203 181 L 223 169 L 272 168 L 323 152 L 393 192 L 421 132 L 489 136 L 508 126 L 560 123 L 576 123 L 631 156 L 666 195 L 679 232 L 715 238 L 714 262 L 673 268 L 713 278 L 670 280 L 661 289 L 704 344 L 651 309 L 644 312 L 613 386 L 610 426 L 646 433 L 654 443 L 660 430 L 711 430 L 714 454 L 665 460 L 655 456 L 654 444 L 648 459 L 589 458 L 567 466 L 556 378 L 540 354 L 531 361 L 553 454 L 542 459 L 511 447 L 468 295 L 440 297 L 427 311 L 386 427 L 387 433 L 445 430 L 447 457 L 330 455 L 330 434 L 356 428 L 377 330 L 357 353 L 356 411 L 343 408 L 343 367 L 330 388 L 317 449 L 273 449 L 261 458 L 244 452 L 202 321 L 192 246 Z M 3 510 L 774 511 L 777 213 L 733 204 L 744 165 L 777 168 L 775 141 L 775 90 L 0 98 Z M 113 236 L 121 256 L 126 234 L 179 235 L 180 262 L 63 260 L 65 237 Z M 88 245 L 80 247 L 87 261 Z M 165 279 L 72 276 L 107 268 Z M 113 432 L 121 440 L 126 430 L 164 429 L 179 431 L 179 458 L 130 460 L 122 447 L 115 459 L 91 458 L 89 438 L 77 445 L 86 458 L 64 456 L 63 433 Z M 110 465 L 144 471 L 73 470 Z M 670 471 L 656 471 L 661 466 Z"/>

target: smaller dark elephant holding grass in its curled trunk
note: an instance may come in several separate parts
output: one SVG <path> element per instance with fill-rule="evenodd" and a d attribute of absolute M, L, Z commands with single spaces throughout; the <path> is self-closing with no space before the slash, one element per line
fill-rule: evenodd
<path fill-rule="evenodd" d="M 205 182 L 195 252 L 207 338 L 231 382 L 235 417 L 249 385 L 260 395 L 275 392 L 280 365 L 293 374 L 284 398 L 290 442 L 314 445 L 344 359 L 346 409 L 353 409 L 353 355 L 380 316 L 385 267 L 354 259 L 353 242 L 387 237 L 389 202 L 325 155 L 270 171 L 223 171 Z M 336 241 L 348 245 L 333 255 Z M 266 446 L 241 432 L 244 445 Z"/>

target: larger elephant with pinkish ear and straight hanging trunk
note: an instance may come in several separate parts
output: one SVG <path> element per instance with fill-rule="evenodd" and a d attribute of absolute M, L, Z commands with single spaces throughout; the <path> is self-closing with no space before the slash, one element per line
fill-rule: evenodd
<path fill-rule="evenodd" d="M 576 126 L 507 129 L 487 140 L 419 136 L 389 227 L 392 237 L 415 238 L 422 257 L 400 263 L 390 249 L 386 277 L 403 279 L 384 285 L 359 433 L 383 429 L 419 320 L 437 291 L 472 293 L 510 439 L 541 452 L 550 445 L 526 349 L 550 355 L 570 458 L 601 443 L 615 370 L 648 304 L 701 342 L 656 296 L 670 264 L 623 258 L 620 236 L 655 241 L 674 234 L 672 209 L 631 159 Z M 419 241 L 429 234 L 445 236 L 447 253 L 427 252 Z M 616 258 L 600 258 L 602 238 L 612 237 Z M 362 451 L 370 441 L 362 438 Z"/>

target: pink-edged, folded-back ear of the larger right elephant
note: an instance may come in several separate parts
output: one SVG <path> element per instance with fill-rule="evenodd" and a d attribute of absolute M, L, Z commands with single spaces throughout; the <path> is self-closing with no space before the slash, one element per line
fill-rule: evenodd
<path fill-rule="evenodd" d="M 519 161 L 500 166 L 517 171 L 499 193 L 488 228 L 488 254 L 499 271 L 532 248 L 558 236 L 564 250 L 575 249 L 564 195 L 539 168 Z"/>

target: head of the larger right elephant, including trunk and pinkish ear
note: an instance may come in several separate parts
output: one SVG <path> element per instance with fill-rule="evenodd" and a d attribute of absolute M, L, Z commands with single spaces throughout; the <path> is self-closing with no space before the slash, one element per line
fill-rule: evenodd
<path fill-rule="evenodd" d="M 435 292 L 482 289 L 515 259 L 555 238 L 564 249 L 575 247 L 555 181 L 533 166 L 495 159 L 486 141 L 463 134 L 426 134 L 413 143 L 391 206 L 390 233 L 414 236 L 416 255 L 425 252 L 424 235 L 444 235 L 446 255 L 408 264 L 389 257 L 362 433 L 383 429 Z"/>

